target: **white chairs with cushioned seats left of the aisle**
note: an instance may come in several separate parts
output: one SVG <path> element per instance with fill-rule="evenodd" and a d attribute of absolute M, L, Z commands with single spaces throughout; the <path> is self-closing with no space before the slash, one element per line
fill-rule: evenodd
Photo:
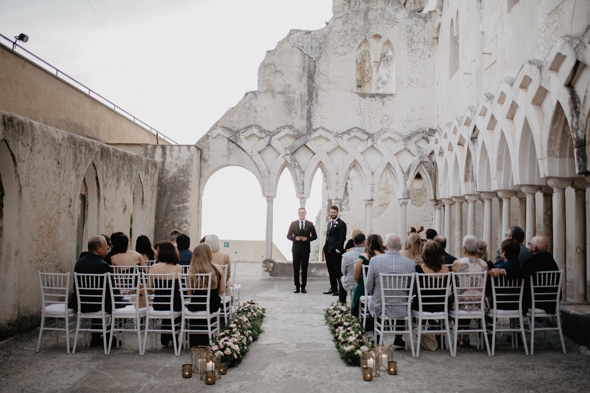
<path fill-rule="evenodd" d="M 235 260 L 234 269 L 235 272 Z M 41 286 L 41 327 L 39 332 L 39 338 L 37 342 L 37 352 L 40 350 L 41 338 L 44 331 L 53 330 L 55 331 L 55 342 L 58 343 L 58 332 L 65 332 L 65 339 L 67 345 L 67 353 L 70 354 L 70 332 L 73 330 L 71 325 L 73 322 L 70 318 L 77 316 L 76 318 L 76 334 L 74 336 L 74 348 L 73 352 L 76 352 L 76 346 L 78 341 L 78 333 L 80 332 L 100 332 L 103 335 L 104 354 L 110 354 L 112 346 L 113 334 L 119 333 L 119 337 L 122 338 L 124 332 L 132 331 L 137 334 L 138 345 L 140 355 L 145 354 L 147 336 L 149 332 L 154 333 L 171 333 L 172 341 L 175 348 L 175 354 L 179 355 L 181 352 L 181 344 L 183 336 L 186 333 L 208 333 L 209 341 L 211 342 L 212 334 L 219 332 L 219 316 L 224 316 L 225 322 L 229 322 L 232 314 L 232 308 L 237 309 L 240 306 L 240 289 L 241 286 L 235 284 L 235 273 L 232 272 L 232 286 L 231 295 L 223 296 L 221 299 L 221 308 L 217 313 L 209 312 L 209 296 L 211 292 L 211 279 L 205 279 L 206 275 L 192 275 L 192 279 L 187 282 L 186 278 L 189 276 L 186 273 L 186 269 L 183 269 L 182 275 L 179 275 L 179 281 L 176 279 L 167 277 L 166 275 L 149 275 L 147 273 L 148 267 L 145 266 L 119 266 L 115 267 L 114 273 L 104 273 L 101 275 L 80 275 L 74 273 L 74 290 L 77 293 L 77 309 L 68 308 L 68 298 L 70 296 L 70 273 L 42 273 L 39 272 L 39 280 Z M 227 269 L 227 266 L 225 266 Z M 224 272 L 227 270 L 224 269 Z M 224 275 L 225 277 L 225 275 Z M 155 311 L 153 310 L 153 300 L 157 297 L 154 295 L 145 296 L 147 300 L 146 307 L 139 307 L 139 296 L 132 296 L 130 292 L 139 293 L 141 289 L 146 289 L 148 292 L 154 290 L 160 290 L 165 292 L 173 291 L 175 288 L 164 288 L 161 287 L 163 284 L 162 279 L 168 278 L 172 280 L 172 285 L 181 284 L 182 292 L 182 311 L 173 311 L 173 299 L 168 299 L 170 303 L 170 310 Z M 106 285 L 107 282 L 110 285 Z M 208 288 L 203 286 L 204 282 L 208 282 Z M 220 285 L 224 285 L 223 280 Z M 158 287 L 160 285 L 160 288 Z M 194 288 L 193 288 L 194 287 Z M 107 293 L 107 288 L 110 288 L 110 293 Z M 80 290 L 81 296 L 80 296 Z M 195 303 L 196 299 L 194 296 L 188 295 L 189 290 L 207 290 L 207 305 L 205 311 L 190 312 L 186 309 L 186 306 L 191 299 L 192 304 Z M 124 296 L 119 296 L 119 293 L 123 293 Z M 110 296 L 112 302 L 112 312 L 107 313 L 104 306 L 107 296 Z M 156 299 L 158 302 L 158 299 Z M 202 306 L 205 306 L 203 300 Z M 119 308 L 117 308 L 117 306 Z M 90 312 L 81 312 L 81 309 L 91 309 Z M 211 320 L 217 315 L 215 322 Z M 175 318 L 182 317 L 181 323 L 175 323 Z M 52 318 L 55 320 L 54 326 L 46 326 L 46 319 Z M 64 321 L 64 326 L 58 321 Z M 162 320 L 171 319 L 171 330 L 162 328 Z M 191 329 L 188 324 L 190 319 L 207 319 L 207 329 Z M 91 322 L 94 320 L 94 323 Z M 100 320 L 101 328 L 96 328 L 97 320 Z M 142 323 L 145 321 L 145 323 Z M 158 321 L 160 327 L 158 328 Z M 85 323 L 83 323 L 85 322 Z M 109 323 L 110 326 L 109 326 Z M 126 323 L 127 322 L 127 323 Z M 95 326 L 93 326 L 93 324 Z M 143 325 L 143 328 L 142 328 Z M 182 333 L 181 333 L 182 332 Z M 143 333 L 143 343 L 142 343 Z M 176 343 L 176 333 L 181 333 L 180 342 Z M 109 344 L 107 346 L 107 337 L 109 337 Z M 155 335 L 152 335 L 152 345 Z M 84 335 L 84 342 L 87 342 L 87 336 Z M 118 340 L 118 339 L 117 339 Z M 142 345 L 143 344 L 143 345 Z"/>

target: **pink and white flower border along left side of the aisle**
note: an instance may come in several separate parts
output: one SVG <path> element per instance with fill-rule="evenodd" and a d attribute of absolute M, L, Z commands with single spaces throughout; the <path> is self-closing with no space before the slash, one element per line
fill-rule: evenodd
<path fill-rule="evenodd" d="M 227 363 L 228 368 L 236 367 L 248 352 L 248 346 L 258 339 L 266 308 L 254 300 L 242 304 L 232 316 L 225 330 L 213 339 L 211 350 L 219 362 Z"/>

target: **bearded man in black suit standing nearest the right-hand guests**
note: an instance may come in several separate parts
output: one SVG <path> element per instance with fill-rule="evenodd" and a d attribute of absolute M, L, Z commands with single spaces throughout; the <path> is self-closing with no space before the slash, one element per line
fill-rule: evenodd
<path fill-rule="evenodd" d="M 338 296 L 338 282 L 342 276 L 342 253 L 346 242 L 346 223 L 338 216 L 338 206 L 330 207 L 330 222 L 327 227 L 326 244 L 324 245 L 324 257 L 330 275 L 330 289 L 326 295 L 332 293 Z"/>

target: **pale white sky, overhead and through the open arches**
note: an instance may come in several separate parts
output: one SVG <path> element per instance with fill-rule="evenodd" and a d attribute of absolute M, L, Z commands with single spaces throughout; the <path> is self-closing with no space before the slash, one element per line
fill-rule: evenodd
<path fill-rule="evenodd" d="M 258 65 L 290 29 L 319 29 L 331 17 L 332 0 L 0 0 L 1 34 L 27 34 L 24 48 L 181 144 L 196 143 L 257 89 Z M 315 180 L 312 221 L 321 206 Z M 273 240 L 287 259 L 297 207 L 286 171 Z M 266 200 L 246 170 L 215 173 L 203 209 L 202 233 L 264 240 Z"/>

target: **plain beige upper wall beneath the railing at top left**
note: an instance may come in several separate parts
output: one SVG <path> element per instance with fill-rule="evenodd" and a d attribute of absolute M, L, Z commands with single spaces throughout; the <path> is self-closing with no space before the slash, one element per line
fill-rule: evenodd
<path fill-rule="evenodd" d="M 103 143 L 156 143 L 154 134 L 2 45 L 0 64 L 0 110 Z"/>

